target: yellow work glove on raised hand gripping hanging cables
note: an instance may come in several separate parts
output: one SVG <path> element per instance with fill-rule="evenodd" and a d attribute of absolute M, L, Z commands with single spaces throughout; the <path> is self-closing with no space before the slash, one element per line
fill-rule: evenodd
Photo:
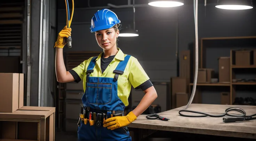
<path fill-rule="evenodd" d="M 61 32 L 59 32 L 57 41 L 55 42 L 55 46 L 54 47 L 58 47 L 58 48 L 63 48 L 66 43 L 67 43 L 67 39 L 69 36 L 71 36 L 71 28 L 67 28 L 67 26 L 65 26 Z M 64 38 L 66 37 L 66 38 Z"/>

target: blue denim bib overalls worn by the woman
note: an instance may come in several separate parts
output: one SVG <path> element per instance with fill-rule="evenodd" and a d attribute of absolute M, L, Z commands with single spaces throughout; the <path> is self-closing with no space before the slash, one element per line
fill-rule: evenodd
<path fill-rule="evenodd" d="M 130 56 L 125 56 L 125 59 L 119 62 L 113 71 L 114 78 L 89 76 L 93 73 L 96 58 L 91 59 L 87 68 L 86 91 L 82 96 L 83 106 L 107 111 L 124 111 L 125 104 L 117 95 L 117 79 L 123 74 Z M 78 128 L 78 141 L 131 141 L 131 137 L 125 128 L 110 130 L 103 127 L 103 124 L 98 127 L 96 124 L 90 126 L 89 122 L 81 122 Z"/>

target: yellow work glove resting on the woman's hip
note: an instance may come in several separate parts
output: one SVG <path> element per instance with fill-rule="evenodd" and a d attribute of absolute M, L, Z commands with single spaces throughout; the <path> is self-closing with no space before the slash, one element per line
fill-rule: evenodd
<path fill-rule="evenodd" d="M 133 112 L 130 112 L 126 116 L 115 116 L 113 118 L 106 119 L 105 121 L 103 121 L 103 127 L 114 130 L 120 127 L 127 126 L 136 119 L 136 115 Z"/>

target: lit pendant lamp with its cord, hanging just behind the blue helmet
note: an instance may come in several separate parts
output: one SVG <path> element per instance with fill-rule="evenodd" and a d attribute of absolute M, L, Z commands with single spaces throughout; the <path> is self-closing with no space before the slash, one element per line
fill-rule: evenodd
<path fill-rule="evenodd" d="M 130 28 L 124 28 L 120 29 L 119 37 L 134 37 L 139 36 L 138 30 L 135 30 L 135 6 L 134 6 L 134 0 L 133 0 L 133 29 Z"/>

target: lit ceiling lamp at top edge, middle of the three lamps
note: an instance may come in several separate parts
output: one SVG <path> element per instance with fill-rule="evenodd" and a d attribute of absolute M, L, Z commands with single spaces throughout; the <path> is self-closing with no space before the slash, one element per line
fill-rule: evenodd
<path fill-rule="evenodd" d="M 149 0 L 149 5 L 155 7 L 177 7 L 184 5 L 184 0 Z"/>

